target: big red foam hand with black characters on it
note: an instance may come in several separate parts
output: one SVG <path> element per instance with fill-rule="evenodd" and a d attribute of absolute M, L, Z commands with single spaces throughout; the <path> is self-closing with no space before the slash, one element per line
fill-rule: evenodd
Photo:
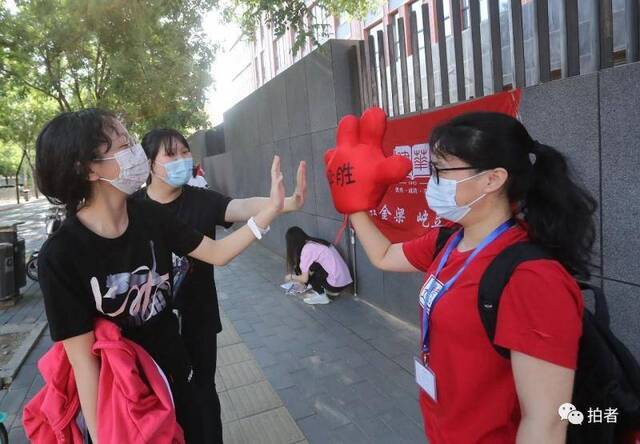
<path fill-rule="evenodd" d="M 353 214 L 376 208 L 389 185 L 400 182 L 411 171 L 411 161 L 402 156 L 385 157 L 382 137 L 387 116 L 380 108 L 369 108 L 362 118 L 345 116 L 338 125 L 336 147 L 324 155 L 325 173 L 338 212 Z"/>

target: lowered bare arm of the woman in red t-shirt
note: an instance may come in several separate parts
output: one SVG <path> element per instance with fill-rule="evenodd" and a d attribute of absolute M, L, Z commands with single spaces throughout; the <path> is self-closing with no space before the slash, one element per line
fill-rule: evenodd
<path fill-rule="evenodd" d="M 561 421 L 558 407 L 571 402 L 574 371 L 517 351 L 511 352 L 522 418 L 518 444 L 564 444 L 567 421 Z"/>

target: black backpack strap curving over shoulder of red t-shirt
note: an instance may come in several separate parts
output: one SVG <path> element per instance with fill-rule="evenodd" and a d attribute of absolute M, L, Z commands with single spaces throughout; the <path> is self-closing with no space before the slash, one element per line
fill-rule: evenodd
<path fill-rule="evenodd" d="M 493 344 L 493 348 L 505 359 L 509 359 L 510 351 L 493 343 L 496 334 L 500 297 L 516 267 L 522 262 L 537 259 L 552 259 L 552 256 L 539 245 L 530 242 L 518 242 L 500 252 L 491 261 L 480 280 L 478 290 L 480 319 L 491 344 Z"/>

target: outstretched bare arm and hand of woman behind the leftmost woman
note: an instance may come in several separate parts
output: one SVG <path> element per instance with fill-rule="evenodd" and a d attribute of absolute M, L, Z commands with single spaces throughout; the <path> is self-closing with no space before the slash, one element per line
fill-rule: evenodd
<path fill-rule="evenodd" d="M 298 211 L 304 206 L 304 197 L 307 190 L 307 166 L 304 161 L 298 166 L 296 189 L 293 195 L 284 200 L 284 213 Z M 227 206 L 224 214 L 226 222 L 242 222 L 257 215 L 270 206 L 268 197 L 250 197 L 247 199 L 233 199 Z"/>

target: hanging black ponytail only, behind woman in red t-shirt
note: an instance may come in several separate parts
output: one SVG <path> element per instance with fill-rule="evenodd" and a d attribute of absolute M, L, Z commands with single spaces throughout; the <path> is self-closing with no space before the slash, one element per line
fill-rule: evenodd
<path fill-rule="evenodd" d="M 571 273 L 588 278 L 597 203 L 573 180 L 562 153 L 538 142 L 531 151 L 535 160 L 524 199 L 529 236 Z"/>

